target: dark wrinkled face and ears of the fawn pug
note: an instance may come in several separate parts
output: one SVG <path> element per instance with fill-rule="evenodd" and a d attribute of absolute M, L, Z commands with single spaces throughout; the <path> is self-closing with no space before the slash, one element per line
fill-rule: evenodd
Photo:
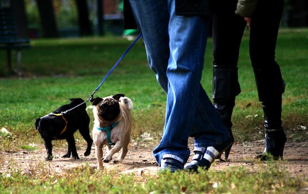
<path fill-rule="evenodd" d="M 108 96 L 106 98 L 95 98 L 91 100 L 93 106 L 97 109 L 97 114 L 106 122 L 112 122 L 119 117 L 120 104 L 119 99 L 123 94 Z"/>

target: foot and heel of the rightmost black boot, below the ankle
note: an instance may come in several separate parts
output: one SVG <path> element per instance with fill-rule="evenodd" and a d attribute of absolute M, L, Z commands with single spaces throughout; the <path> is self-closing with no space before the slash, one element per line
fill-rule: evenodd
<path fill-rule="evenodd" d="M 257 158 L 260 160 L 282 160 L 285 142 L 283 127 L 265 129 L 265 149 Z"/>

